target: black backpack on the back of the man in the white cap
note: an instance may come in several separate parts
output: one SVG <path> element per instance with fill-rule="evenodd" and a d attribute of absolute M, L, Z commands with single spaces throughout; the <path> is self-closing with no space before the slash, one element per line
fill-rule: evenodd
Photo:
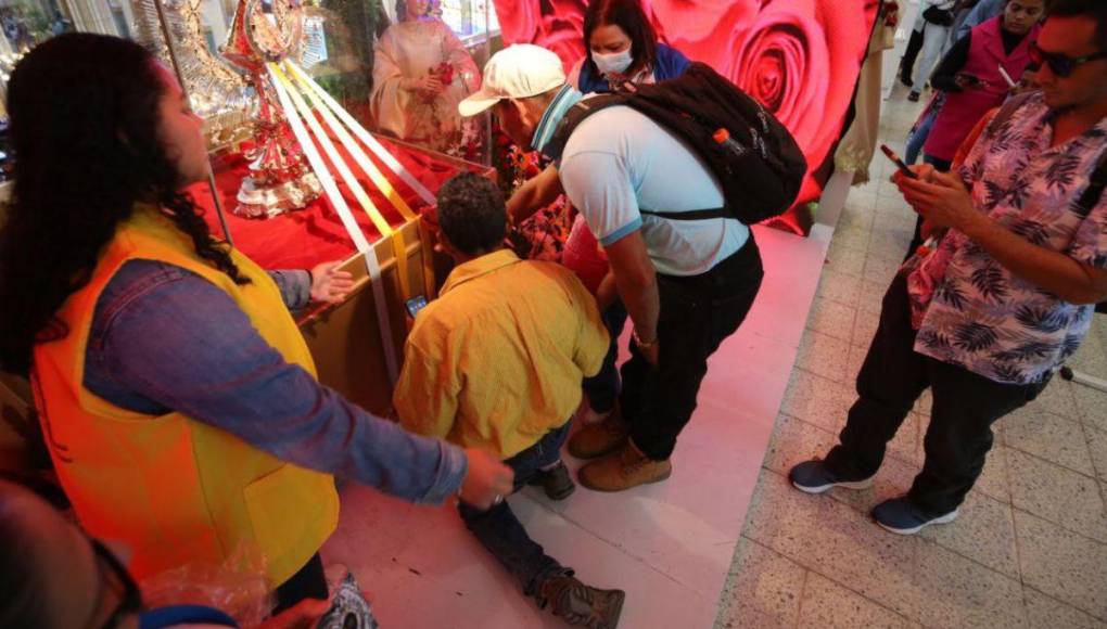
<path fill-rule="evenodd" d="M 733 218 L 754 224 L 784 213 L 795 202 L 807 174 L 796 140 L 757 101 L 710 65 L 693 63 L 676 78 L 629 88 L 586 98 L 569 109 L 544 153 L 559 158 L 584 118 L 627 105 L 686 141 L 711 169 L 725 199 L 722 208 L 642 209 L 643 214 L 672 220 Z"/>

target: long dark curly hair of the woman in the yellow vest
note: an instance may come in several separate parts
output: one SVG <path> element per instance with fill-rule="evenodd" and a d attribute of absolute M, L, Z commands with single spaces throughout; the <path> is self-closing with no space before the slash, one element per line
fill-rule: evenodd
<path fill-rule="evenodd" d="M 158 138 L 165 86 L 156 63 L 134 42 L 70 33 L 32 50 L 12 72 L 15 168 L 0 228 L 0 368 L 28 373 L 35 343 L 68 334 L 55 313 L 87 284 L 137 202 L 161 207 L 200 258 L 248 282 L 179 190 Z"/>

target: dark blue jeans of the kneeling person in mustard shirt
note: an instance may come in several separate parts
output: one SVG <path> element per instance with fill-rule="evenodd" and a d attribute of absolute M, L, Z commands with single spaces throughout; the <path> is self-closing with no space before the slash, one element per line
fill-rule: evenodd
<path fill-rule="evenodd" d="M 527 484 L 540 469 L 560 460 L 561 444 L 568 437 L 569 422 L 566 422 L 561 428 L 547 432 L 538 443 L 504 461 L 515 472 L 513 493 Z M 534 597 L 539 605 L 545 602 L 541 593 L 547 580 L 572 575 L 571 569 L 547 555 L 541 545 L 527 535 L 527 530 L 511 512 L 507 501 L 488 511 L 459 503 L 457 511 L 462 514 L 465 527 L 511 573 L 523 587 L 523 594 Z"/>

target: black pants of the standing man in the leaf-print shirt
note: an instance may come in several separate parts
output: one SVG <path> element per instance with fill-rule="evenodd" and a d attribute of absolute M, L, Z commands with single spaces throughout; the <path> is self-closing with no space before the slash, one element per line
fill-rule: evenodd
<path fill-rule="evenodd" d="M 961 504 L 980 476 L 992 448 L 992 423 L 1036 398 L 1048 379 L 1002 385 L 917 354 L 914 336 L 907 279 L 899 274 L 884 295 L 880 325 L 857 376 L 858 399 L 826 464 L 845 479 L 875 474 L 884 447 L 930 387 L 934 403 L 923 440 L 927 459 L 908 497 L 925 513 L 944 515 Z"/>

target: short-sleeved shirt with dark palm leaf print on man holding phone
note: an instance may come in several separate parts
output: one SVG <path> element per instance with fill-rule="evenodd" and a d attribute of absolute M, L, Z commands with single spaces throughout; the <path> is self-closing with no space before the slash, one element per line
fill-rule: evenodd
<path fill-rule="evenodd" d="M 1051 147 L 1051 116 L 1041 94 L 1027 98 L 981 135 L 959 174 L 975 207 L 999 224 L 1107 269 L 1107 193 L 1090 211 L 1076 203 L 1107 148 L 1107 118 Z M 946 232 L 931 256 L 908 264 L 909 296 L 925 308 L 914 343 L 920 354 L 1026 385 L 1059 368 L 1088 333 L 1094 306 L 1070 304 L 1015 275 L 958 231 Z M 941 275 L 920 276 L 928 272 Z M 917 294 L 928 285 L 932 296 Z"/>

